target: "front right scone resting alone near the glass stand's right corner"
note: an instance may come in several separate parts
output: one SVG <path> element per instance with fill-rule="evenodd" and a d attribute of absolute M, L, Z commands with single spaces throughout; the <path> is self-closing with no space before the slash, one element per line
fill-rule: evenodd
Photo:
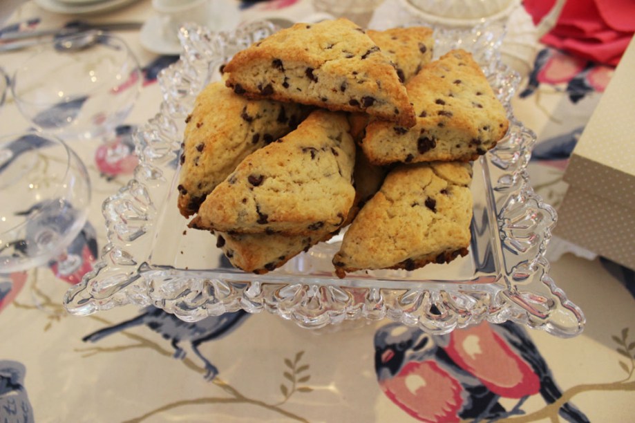
<path fill-rule="evenodd" d="M 363 269 L 415 270 L 467 254 L 472 219 L 471 165 L 401 164 L 344 234 L 338 276 Z"/>

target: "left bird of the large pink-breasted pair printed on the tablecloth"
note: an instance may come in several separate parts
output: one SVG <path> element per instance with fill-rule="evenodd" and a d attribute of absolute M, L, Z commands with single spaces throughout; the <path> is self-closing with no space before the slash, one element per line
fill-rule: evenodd
<path fill-rule="evenodd" d="M 375 334 L 375 371 L 384 394 L 424 422 L 495 419 L 507 415 L 498 395 L 457 366 L 418 328 L 389 323 Z"/>

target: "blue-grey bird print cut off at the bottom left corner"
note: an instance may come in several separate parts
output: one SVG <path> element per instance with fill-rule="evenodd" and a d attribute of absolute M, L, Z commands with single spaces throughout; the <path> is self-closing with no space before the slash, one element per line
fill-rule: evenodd
<path fill-rule="evenodd" d="M 33 409 L 24 387 L 26 368 L 17 361 L 0 360 L 0 420 L 32 423 Z"/>

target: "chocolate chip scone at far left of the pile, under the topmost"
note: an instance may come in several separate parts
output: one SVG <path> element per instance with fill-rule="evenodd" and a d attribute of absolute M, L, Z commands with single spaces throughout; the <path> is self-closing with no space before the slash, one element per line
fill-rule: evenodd
<path fill-rule="evenodd" d="M 248 100 L 223 82 L 209 84 L 196 98 L 184 131 L 178 207 L 189 217 L 245 157 L 296 129 L 309 107 Z"/>

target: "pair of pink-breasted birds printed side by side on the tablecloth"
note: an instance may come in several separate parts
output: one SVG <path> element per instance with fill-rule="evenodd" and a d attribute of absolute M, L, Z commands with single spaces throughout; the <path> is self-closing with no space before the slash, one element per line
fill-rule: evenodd
<path fill-rule="evenodd" d="M 515 323 L 482 323 L 449 335 L 390 323 L 375 335 L 375 370 L 383 393 L 424 422 L 497 420 L 522 413 L 527 397 L 562 394 L 527 332 Z M 500 398 L 518 399 L 506 410 Z M 588 422 L 571 404 L 571 422 Z"/>

